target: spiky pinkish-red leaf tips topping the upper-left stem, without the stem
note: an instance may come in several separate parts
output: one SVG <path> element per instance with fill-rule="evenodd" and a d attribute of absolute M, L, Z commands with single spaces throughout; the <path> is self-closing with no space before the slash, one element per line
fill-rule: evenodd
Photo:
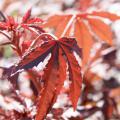
<path fill-rule="evenodd" d="M 1 15 L 4 16 L 1 12 Z M 0 21 L 0 30 L 8 30 L 8 31 L 15 31 L 16 29 L 22 27 L 24 29 L 27 29 L 29 31 L 34 32 L 31 28 L 32 26 L 35 26 L 36 24 L 41 24 L 43 22 L 40 18 L 33 18 L 31 17 L 31 9 L 29 9 L 25 15 L 22 17 L 21 22 L 15 21 L 15 19 L 11 16 L 5 17 L 5 20 Z M 37 28 L 40 28 L 39 25 L 37 25 Z M 35 29 L 35 27 L 34 27 Z M 41 29 L 41 28 L 40 28 Z M 39 30 L 40 30 L 39 29 Z M 41 32 L 43 30 L 41 29 Z"/>

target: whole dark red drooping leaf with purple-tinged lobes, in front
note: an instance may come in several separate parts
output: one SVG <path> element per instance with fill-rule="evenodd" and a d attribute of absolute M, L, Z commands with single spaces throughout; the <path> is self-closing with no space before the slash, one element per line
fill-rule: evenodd
<path fill-rule="evenodd" d="M 82 76 L 81 68 L 74 56 L 74 52 L 81 56 L 81 49 L 77 46 L 74 38 L 50 39 L 24 55 L 22 60 L 13 68 L 11 76 L 14 76 L 22 69 L 28 70 L 37 66 L 51 54 L 51 58 L 44 69 L 44 87 L 38 100 L 36 120 L 42 120 L 56 101 L 66 80 L 66 70 L 69 72 L 69 80 L 71 82 L 69 96 L 74 109 L 76 109 L 81 93 Z M 66 64 L 68 64 L 68 69 Z"/>

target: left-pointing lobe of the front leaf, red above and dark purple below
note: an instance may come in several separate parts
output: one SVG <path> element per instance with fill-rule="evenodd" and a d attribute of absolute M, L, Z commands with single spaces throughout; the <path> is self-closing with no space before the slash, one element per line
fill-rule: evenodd
<path fill-rule="evenodd" d="M 54 41 L 45 42 L 41 46 L 37 46 L 30 53 L 25 55 L 19 63 L 17 69 L 28 69 L 36 66 L 40 61 L 43 61 L 45 57 L 51 52 L 55 45 Z"/>

